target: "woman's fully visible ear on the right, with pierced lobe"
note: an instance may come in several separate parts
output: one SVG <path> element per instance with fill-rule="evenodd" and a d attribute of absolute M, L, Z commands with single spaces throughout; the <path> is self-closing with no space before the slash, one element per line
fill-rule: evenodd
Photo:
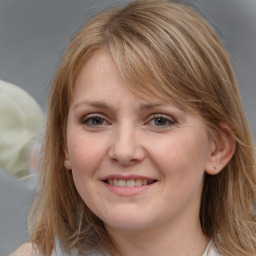
<path fill-rule="evenodd" d="M 213 138 L 210 159 L 205 172 L 216 175 L 228 164 L 235 152 L 235 142 L 230 127 L 226 124 L 219 125 L 219 132 Z"/>

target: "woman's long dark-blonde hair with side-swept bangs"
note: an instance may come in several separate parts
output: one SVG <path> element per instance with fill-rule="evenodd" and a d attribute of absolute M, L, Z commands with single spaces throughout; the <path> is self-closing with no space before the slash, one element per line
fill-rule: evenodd
<path fill-rule="evenodd" d="M 118 254 L 63 166 L 74 81 L 86 60 L 102 48 L 110 51 L 123 81 L 137 95 L 175 101 L 199 114 L 211 134 L 218 134 L 223 123 L 230 128 L 235 153 L 218 175 L 205 177 L 201 226 L 224 256 L 256 255 L 255 152 L 229 58 L 203 18 L 164 0 L 134 1 L 104 11 L 72 39 L 49 95 L 31 241 L 46 256 L 56 237 L 69 252 L 103 244 L 111 255 Z"/>

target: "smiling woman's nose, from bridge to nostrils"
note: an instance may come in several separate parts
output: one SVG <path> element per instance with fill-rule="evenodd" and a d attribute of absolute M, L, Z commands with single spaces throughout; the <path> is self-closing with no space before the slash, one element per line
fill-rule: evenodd
<path fill-rule="evenodd" d="M 129 124 L 118 127 L 112 137 L 109 158 L 124 166 L 141 162 L 145 152 L 139 141 L 135 127 Z"/>

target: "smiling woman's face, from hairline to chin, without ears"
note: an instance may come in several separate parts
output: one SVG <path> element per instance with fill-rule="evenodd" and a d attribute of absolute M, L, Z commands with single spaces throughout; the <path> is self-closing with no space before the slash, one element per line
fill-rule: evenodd
<path fill-rule="evenodd" d="M 66 157 L 81 198 L 110 230 L 199 223 L 214 149 L 200 118 L 129 91 L 107 51 L 84 65 L 69 109 Z"/>

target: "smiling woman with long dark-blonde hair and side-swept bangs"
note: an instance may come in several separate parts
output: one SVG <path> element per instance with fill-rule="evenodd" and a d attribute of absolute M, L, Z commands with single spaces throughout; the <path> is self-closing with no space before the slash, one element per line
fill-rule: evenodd
<path fill-rule="evenodd" d="M 183 5 L 135 1 L 74 37 L 52 83 L 42 169 L 30 243 L 15 256 L 256 253 L 236 80 Z"/>

